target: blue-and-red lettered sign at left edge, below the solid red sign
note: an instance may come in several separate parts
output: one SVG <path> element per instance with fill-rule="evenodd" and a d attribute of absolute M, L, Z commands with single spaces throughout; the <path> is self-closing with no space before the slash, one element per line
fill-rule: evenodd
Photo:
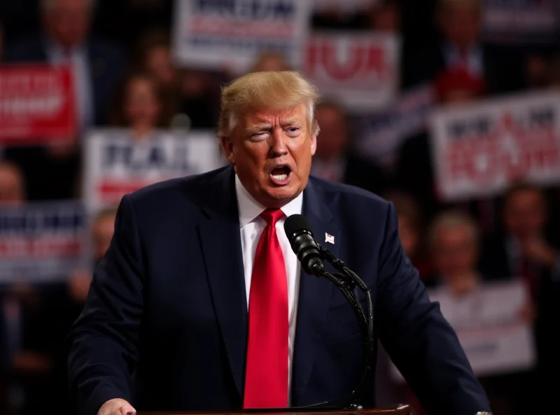
<path fill-rule="evenodd" d="M 0 282 L 68 278 L 89 265 L 87 232 L 77 201 L 0 207 Z"/>

